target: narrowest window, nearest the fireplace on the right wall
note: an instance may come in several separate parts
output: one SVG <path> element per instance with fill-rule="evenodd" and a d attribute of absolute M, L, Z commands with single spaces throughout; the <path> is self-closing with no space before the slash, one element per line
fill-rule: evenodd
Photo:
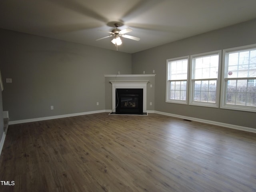
<path fill-rule="evenodd" d="M 166 102 L 188 103 L 188 58 L 167 60 Z"/>

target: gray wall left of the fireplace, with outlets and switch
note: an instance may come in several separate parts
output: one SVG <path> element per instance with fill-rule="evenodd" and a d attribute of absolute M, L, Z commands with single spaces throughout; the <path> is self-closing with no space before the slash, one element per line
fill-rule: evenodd
<path fill-rule="evenodd" d="M 3 29 L 0 42 L 10 121 L 105 110 L 104 74 L 132 73 L 131 54 Z"/>

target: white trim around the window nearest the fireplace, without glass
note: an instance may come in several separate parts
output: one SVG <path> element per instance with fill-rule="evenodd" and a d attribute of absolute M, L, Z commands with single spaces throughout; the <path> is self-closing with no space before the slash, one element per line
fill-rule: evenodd
<path fill-rule="evenodd" d="M 172 59 L 167 59 L 166 60 L 166 96 L 165 96 L 165 102 L 166 103 L 176 103 L 176 104 L 188 104 L 188 88 L 189 88 L 189 55 L 188 56 L 183 56 L 183 57 L 177 57 L 177 58 L 172 58 Z M 175 100 L 175 99 L 168 99 L 169 98 L 169 81 L 168 81 L 168 74 L 169 74 L 169 70 L 168 70 L 168 62 L 170 61 L 175 61 L 175 60 L 182 60 L 182 59 L 187 59 L 188 60 L 188 75 L 187 75 L 187 86 L 186 86 L 186 100 Z"/>

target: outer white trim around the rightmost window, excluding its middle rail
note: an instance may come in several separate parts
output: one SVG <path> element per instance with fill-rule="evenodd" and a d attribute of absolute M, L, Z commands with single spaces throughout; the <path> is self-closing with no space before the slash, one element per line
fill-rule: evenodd
<path fill-rule="evenodd" d="M 246 49 L 256 48 L 256 44 L 246 45 L 246 46 L 239 46 L 235 48 L 228 48 L 223 50 L 222 56 L 222 88 L 221 88 L 221 96 L 220 96 L 220 108 L 222 109 L 230 109 L 230 110 L 241 110 L 241 111 L 248 111 L 248 112 L 256 112 L 256 107 L 252 106 L 240 106 L 240 105 L 232 105 L 232 104 L 225 104 L 226 100 L 226 79 L 225 79 L 225 71 L 228 65 L 226 65 L 226 54 L 229 52 L 241 51 Z"/>

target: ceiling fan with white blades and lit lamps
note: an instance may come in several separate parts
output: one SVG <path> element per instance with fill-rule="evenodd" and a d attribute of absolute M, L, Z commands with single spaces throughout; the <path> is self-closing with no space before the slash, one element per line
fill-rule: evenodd
<path fill-rule="evenodd" d="M 111 40 L 111 42 L 116 45 L 116 50 L 117 50 L 118 45 L 121 45 L 121 44 L 122 44 L 122 40 L 120 39 L 120 37 L 132 39 L 132 40 L 136 40 L 136 41 L 139 41 L 139 40 L 140 40 L 140 38 L 138 38 L 138 37 L 126 35 L 126 33 L 132 31 L 131 28 L 126 28 L 126 29 L 120 30 L 120 29 L 118 29 L 118 27 L 120 26 L 119 23 L 114 23 L 114 26 L 115 26 L 116 28 L 113 29 L 111 32 L 110 32 L 110 31 L 104 31 L 104 30 L 98 30 L 98 31 L 110 33 L 110 35 L 109 35 L 109 36 L 106 36 L 106 37 L 102 37 L 102 38 L 96 39 L 96 41 L 102 40 L 102 39 L 108 38 L 108 37 L 114 37 L 114 38 Z"/>

